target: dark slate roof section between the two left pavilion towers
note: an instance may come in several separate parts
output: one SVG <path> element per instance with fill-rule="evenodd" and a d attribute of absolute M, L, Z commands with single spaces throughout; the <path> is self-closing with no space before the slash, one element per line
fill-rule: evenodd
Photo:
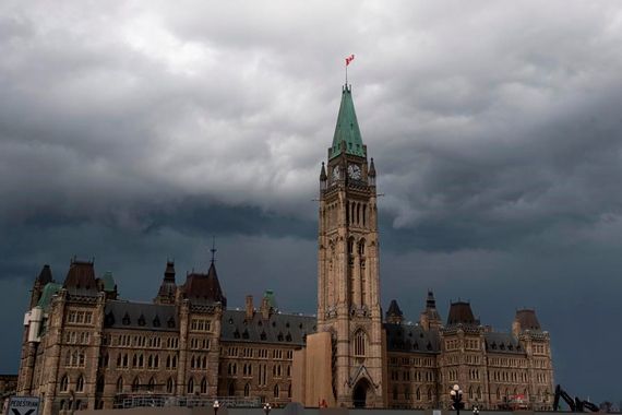
<path fill-rule="evenodd" d="M 111 300 L 106 303 L 104 327 L 154 331 L 178 331 L 175 306 Z"/>

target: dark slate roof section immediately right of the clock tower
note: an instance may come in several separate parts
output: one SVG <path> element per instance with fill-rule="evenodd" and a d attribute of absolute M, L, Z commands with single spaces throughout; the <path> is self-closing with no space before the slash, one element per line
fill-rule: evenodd
<path fill-rule="evenodd" d="M 436 330 L 423 330 L 421 325 L 385 323 L 388 352 L 440 353 Z"/>

